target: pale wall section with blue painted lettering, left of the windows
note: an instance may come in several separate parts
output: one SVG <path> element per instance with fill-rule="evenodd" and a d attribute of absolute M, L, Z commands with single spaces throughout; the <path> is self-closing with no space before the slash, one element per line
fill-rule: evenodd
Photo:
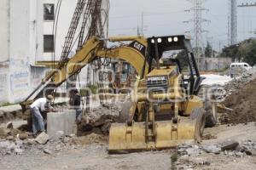
<path fill-rule="evenodd" d="M 31 65 L 43 56 L 43 6 L 35 0 L 0 1 L 0 103 L 32 91 Z M 38 78 L 38 77 L 37 77 Z"/>

